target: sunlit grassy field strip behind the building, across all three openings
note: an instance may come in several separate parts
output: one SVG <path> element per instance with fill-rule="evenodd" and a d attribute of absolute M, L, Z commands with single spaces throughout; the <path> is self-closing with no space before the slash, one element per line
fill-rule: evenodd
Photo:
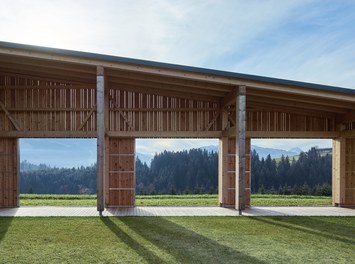
<path fill-rule="evenodd" d="M 253 194 L 254 206 L 323 206 L 331 205 L 331 197 Z M 95 206 L 96 195 L 21 194 L 20 206 Z M 201 195 L 137 195 L 138 206 L 217 206 L 216 194 Z"/>

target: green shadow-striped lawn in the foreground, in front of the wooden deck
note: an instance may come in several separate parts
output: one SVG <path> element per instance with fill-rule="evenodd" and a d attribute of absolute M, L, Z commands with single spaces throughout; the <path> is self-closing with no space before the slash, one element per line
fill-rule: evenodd
<path fill-rule="evenodd" d="M 0 263 L 354 263 L 354 217 L 0 218 Z"/>

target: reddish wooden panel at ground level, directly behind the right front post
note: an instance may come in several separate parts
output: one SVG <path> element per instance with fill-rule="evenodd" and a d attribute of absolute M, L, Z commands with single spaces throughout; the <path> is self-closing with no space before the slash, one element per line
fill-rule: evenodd
<path fill-rule="evenodd" d="M 245 205 L 250 206 L 251 159 L 250 138 L 245 140 Z M 235 207 L 235 138 L 220 139 L 219 147 L 219 204 L 222 207 Z"/>

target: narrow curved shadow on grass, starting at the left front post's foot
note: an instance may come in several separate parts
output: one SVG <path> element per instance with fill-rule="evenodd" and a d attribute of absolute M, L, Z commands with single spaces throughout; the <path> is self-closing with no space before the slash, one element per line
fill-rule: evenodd
<path fill-rule="evenodd" d="M 137 254 L 141 255 L 148 263 L 164 263 L 164 260 L 147 250 L 139 242 L 132 239 L 125 231 L 122 230 L 116 223 L 109 217 L 101 217 L 101 221 L 114 233 L 120 240 L 127 246 L 134 250 Z"/>

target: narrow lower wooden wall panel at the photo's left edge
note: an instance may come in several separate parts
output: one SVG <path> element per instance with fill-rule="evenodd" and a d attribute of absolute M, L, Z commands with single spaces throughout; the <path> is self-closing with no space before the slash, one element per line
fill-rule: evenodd
<path fill-rule="evenodd" d="M 18 206 L 18 139 L 0 139 L 0 207 Z"/>

